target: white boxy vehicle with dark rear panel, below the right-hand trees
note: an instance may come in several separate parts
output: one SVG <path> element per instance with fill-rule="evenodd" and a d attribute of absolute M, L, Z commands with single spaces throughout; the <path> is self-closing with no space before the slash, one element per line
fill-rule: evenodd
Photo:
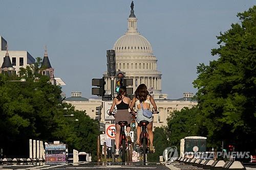
<path fill-rule="evenodd" d="M 206 137 L 187 136 L 180 140 L 180 156 L 193 157 L 194 153 L 206 152 Z"/>

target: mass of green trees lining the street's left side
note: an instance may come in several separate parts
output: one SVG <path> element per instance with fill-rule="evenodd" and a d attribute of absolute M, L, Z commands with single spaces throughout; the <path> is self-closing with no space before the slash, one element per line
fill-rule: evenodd
<path fill-rule="evenodd" d="M 97 122 L 85 111 L 62 104 L 61 88 L 33 71 L 39 66 L 37 59 L 35 67 L 20 69 L 20 76 L 0 74 L 0 148 L 4 155 L 28 157 L 29 139 L 60 140 L 71 152 L 76 149 L 96 155 Z M 13 82 L 21 78 L 26 82 Z M 64 116 L 70 114 L 74 117 Z"/>

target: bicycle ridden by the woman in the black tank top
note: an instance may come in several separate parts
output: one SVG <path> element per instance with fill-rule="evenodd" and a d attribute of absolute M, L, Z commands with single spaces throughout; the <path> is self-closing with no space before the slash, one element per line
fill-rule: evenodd
<path fill-rule="evenodd" d="M 109 115 L 114 115 L 113 113 L 109 113 Z M 128 125 L 126 121 L 119 121 L 118 125 L 120 125 L 121 130 L 120 130 L 120 142 L 119 142 L 119 150 L 121 151 L 121 158 L 122 162 L 125 162 L 125 151 L 126 148 L 128 149 L 127 153 L 130 154 L 130 148 L 131 148 L 131 143 L 132 141 L 127 141 L 126 142 L 126 135 L 124 131 L 124 127 Z"/>

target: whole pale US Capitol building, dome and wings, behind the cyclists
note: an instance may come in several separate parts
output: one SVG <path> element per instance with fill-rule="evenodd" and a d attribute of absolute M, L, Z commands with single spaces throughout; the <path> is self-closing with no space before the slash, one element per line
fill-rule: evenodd
<path fill-rule="evenodd" d="M 172 116 L 175 110 L 184 107 L 191 108 L 197 105 L 193 101 L 193 93 L 185 92 L 183 97 L 177 100 L 167 99 L 167 94 L 162 93 L 162 74 L 157 69 L 157 58 L 153 54 L 152 46 L 148 40 L 137 30 L 137 18 L 133 8 L 129 15 L 128 28 L 114 44 L 113 50 L 116 52 L 116 69 L 125 72 L 125 78 L 133 79 L 133 91 L 139 84 L 144 83 L 148 91 L 155 99 L 159 114 L 154 115 L 153 126 L 161 127 L 167 125 L 167 118 Z M 106 77 L 107 73 L 104 72 Z M 105 78 L 106 94 L 111 93 L 111 78 Z M 72 92 L 72 96 L 67 98 L 66 103 L 70 103 L 77 110 L 86 110 L 86 113 L 95 118 L 96 107 L 102 104 L 98 99 L 82 98 L 80 92 Z M 103 122 L 104 110 L 102 110 L 101 122 Z"/>

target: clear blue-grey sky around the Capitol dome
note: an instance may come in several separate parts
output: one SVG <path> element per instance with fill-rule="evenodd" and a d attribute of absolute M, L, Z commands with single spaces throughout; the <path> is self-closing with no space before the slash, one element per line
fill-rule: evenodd
<path fill-rule="evenodd" d="M 106 50 L 127 29 L 131 1 L 0 0 L 0 35 L 10 50 L 34 58 L 48 55 L 67 96 L 81 91 L 90 98 L 91 79 L 106 70 Z M 210 50 L 216 36 L 239 22 L 238 12 L 255 1 L 134 1 L 138 31 L 150 41 L 162 72 L 162 92 L 169 99 L 194 92 L 197 65 L 217 59 Z"/>

